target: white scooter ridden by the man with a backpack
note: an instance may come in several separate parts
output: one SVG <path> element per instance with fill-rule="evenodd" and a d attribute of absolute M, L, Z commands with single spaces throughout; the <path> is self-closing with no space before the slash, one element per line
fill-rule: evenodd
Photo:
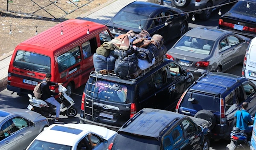
<path fill-rule="evenodd" d="M 60 115 L 67 115 L 68 117 L 74 117 L 77 114 L 76 108 L 73 106 L 75 105 L 74 100 L 66 94 L 67 89 L 59 85 L 58 91 L 62 94 L 60 95 L 61 99 L 61 110 Z M 37 113 L 40 113 L 42 116 L 45 116 L 47 118 L 51 117 L 52 115 L 56 115 L 56 108 L 53 108 L 52 105 L 48 102 L 45 102 L 42 99 L 38 99 L 36 97 L 33 97 L 31 94 L 29 95 L 29 105 L 28 109 L 35 111 Z"/>

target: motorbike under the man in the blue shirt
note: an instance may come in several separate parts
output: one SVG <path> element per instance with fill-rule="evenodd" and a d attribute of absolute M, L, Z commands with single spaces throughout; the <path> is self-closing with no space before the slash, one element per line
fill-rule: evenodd
<path fill-rule="evenodd" d="M 226 150 L 247 150 L 250 149 L 251 142 L 247 139 L 247 134 L 238 127 L 233 127 L 230 133 L 230 144 L 227 144 Z"/>

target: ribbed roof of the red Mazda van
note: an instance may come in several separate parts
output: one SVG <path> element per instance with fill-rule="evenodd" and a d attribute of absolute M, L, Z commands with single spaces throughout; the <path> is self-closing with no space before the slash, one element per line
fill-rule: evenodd
<path fill-rule="evenodd" d="M 63 35 L 61 35 L 61 26 L 63 26 Z M 84 33 L 87 32 L 88 28 L 90 33 L 102 28 L 107 29 L 105 25 L 99 23 L 80 19 L 70 19 L 20 43 L 20 45 L 33 45 L 48 49 L 49 51 L 55 51 L 63 47 L 64 43 L 67 43 L 66 45 L 70 45 L 83 38 Z"/>

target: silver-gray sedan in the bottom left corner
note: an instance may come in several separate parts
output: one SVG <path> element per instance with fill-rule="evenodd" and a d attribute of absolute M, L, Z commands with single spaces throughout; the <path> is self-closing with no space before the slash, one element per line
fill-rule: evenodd
<path fill-rule="evenodd" d="M 0 109 L 0 150 L 25 150 L 48 127 L 41 114 L 17 108 Z"/>

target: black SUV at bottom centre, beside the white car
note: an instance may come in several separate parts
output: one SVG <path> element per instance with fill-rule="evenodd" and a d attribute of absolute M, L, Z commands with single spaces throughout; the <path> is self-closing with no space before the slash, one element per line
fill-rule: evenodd
<path fill-rule="evenodd" d="M 209 122 L 144 108 L 117 132 L 108 150 L 209 150 Z"/>

